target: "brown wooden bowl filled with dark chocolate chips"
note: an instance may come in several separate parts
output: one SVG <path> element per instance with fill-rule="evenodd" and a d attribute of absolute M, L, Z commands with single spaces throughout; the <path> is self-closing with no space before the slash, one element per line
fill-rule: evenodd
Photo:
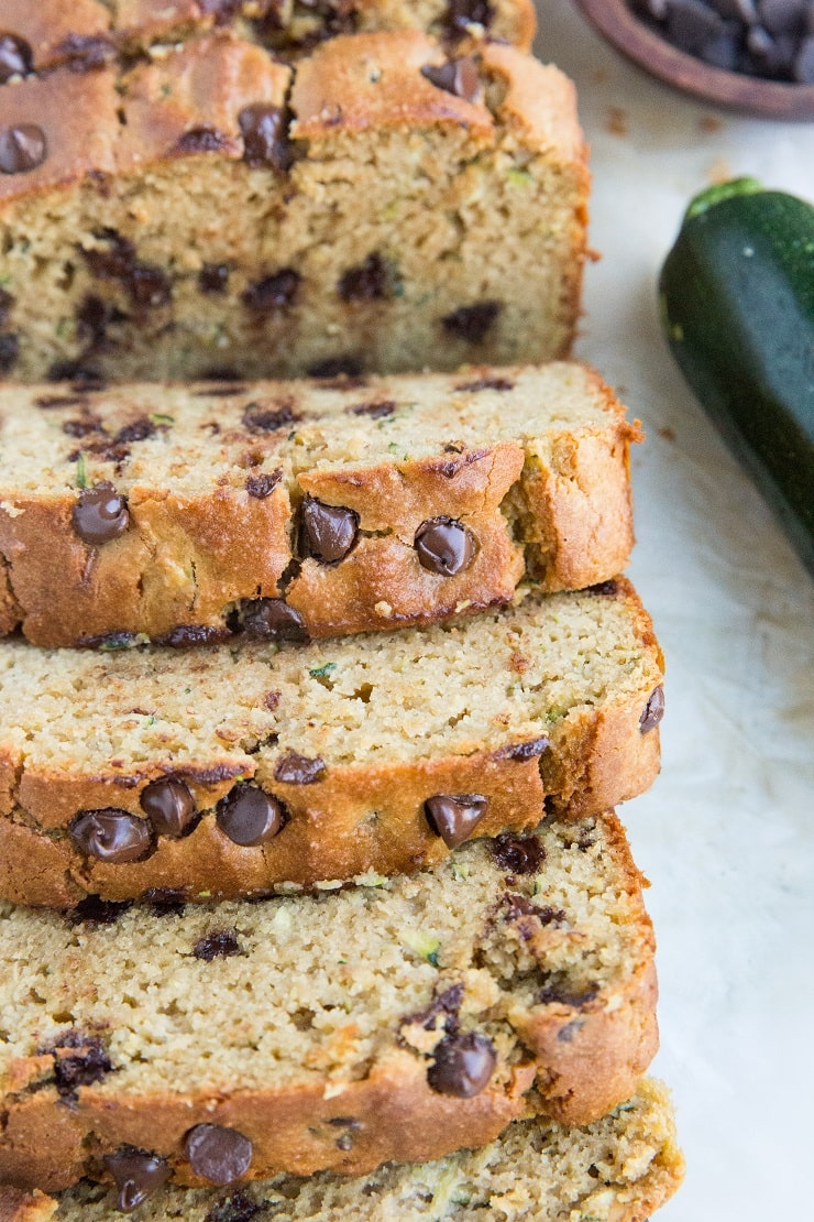
<path fill-rule="evenodd" d="M 814 119 L 814 0 L 576 0 L 622 55 L 685 93 Z"/>

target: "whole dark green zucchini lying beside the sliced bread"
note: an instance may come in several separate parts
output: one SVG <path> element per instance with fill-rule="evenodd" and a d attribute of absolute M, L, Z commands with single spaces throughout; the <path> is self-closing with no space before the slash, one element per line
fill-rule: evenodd
<path fill-rule="evenodd" d="M 814 574 L 814 208 L 753 178 L 702 192 L 659 298 L 685 378 Z"/>

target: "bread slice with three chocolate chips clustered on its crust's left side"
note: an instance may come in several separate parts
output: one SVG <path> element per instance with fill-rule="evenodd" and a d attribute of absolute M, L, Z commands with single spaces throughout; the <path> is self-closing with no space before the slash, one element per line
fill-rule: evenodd
<path fill-rule="evenodd" d="M 415 871 L 659 766 L 631 587 L 330 648 L 0 645 L 0 897 L 71 907 Z"/>

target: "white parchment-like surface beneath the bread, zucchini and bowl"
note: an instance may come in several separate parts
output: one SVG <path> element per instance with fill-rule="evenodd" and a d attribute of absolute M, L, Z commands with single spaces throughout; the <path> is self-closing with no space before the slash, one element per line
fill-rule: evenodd
<path fill-rule="evenodd" d="M 655 281 L 682 211 L 749 174 L 814 202 L 814 123 L 747 120 L 658 84 L 567 0 L 537 54 L 592 145 L 577 354 L 647 431 L 630 569 L 666 654 L 664 766 L 621 809 L 650 879 L 661 1052 L 687 1157 L 664 1222 L 814 1217 L 814 583 L 664 346 Z M 720 127 L 709 130 L 709 117 Z M 626 131 L 625 131 L 626 130 Z"/>

